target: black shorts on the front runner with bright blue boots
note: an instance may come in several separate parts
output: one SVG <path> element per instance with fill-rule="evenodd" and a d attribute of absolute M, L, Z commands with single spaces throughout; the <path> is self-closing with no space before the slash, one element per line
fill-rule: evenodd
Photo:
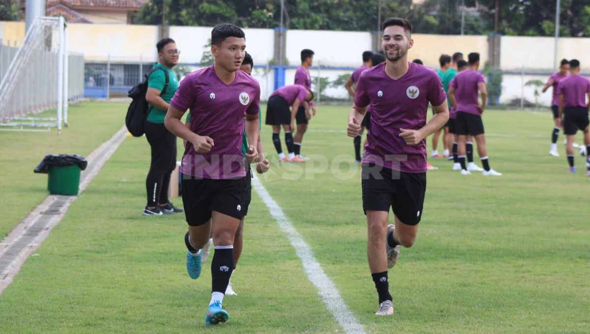
<path fill-rule="evenodd" d="M 191 178 L 183 176 L 182 204 L 184 204 L 186 223 L 199 226 L 211 219 L 212 211 L 242 219 L 246 205 L 246 178 L 228 178 L 212 180 L 211 178 Z"/>

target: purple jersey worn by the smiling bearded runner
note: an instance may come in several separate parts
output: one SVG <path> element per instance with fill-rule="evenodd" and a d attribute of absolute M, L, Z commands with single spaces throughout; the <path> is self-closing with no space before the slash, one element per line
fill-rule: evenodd
<path fill-rule="evenodd" d="M 447 96 L 436 72 L 409 63 L 408 72 L 398 80 L 385 73 L 385 64 L 360 75 L 355 105 L 371 106 L 371 131 L 367 134 L 363 163 L 402 171 L 426 171 L 426 142 L 408 145 L 399 129 L 419 130 L 426 125 L 428 102 L 438 106 Z"/>

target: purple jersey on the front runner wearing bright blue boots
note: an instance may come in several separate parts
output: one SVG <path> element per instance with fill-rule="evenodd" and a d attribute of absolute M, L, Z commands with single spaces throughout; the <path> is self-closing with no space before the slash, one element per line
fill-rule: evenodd
<path fill-rule="evenodd" d="M 225 84 L 210 66 L 186 75 L 170 104 L 181 111 L 190 109 L 191 131 L 214 141 L 211 151 L 204 154 L 196 153 L 194 145 L 187 145 L 182 174 L 212 179 L 246 175 L 241 148 L 244 117 L 258 115 L 258 81 L 237 71 L 234 81 Z"/>

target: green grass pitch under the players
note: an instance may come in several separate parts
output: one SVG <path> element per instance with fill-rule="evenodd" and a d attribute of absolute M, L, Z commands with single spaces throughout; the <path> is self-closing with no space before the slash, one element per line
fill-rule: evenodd
<path fill-rule="evenodd" d="M 89 153 L 120 127 L 124 107 L 72 109 L 80 123 L 62 136 L 76 147 L 56 147 L 55 133 L 0 133 L 2 169 L 19 168 L 0 180 L 11 191 L 2 196 L 27 203 L 4 216 L 4 233 L 47 194 L 31 171 L 42 154 Z M 567 173 L 562 145 L 562 157 L 548 155 L 549 112 L 486 112 L 490 163 L 502 177 L 462 177 L 431 161 L 440 169 L 428 173 L 417 243 L 389 272 L 395 318 L 376 318 L 348 108 L 318 109 L 302 148 L 313 160 L 274 163 L 261 178 L 366 332 L 588 333 L 590 178 L 579 156 L 578 174 Z M 88 135 L 95 142 L 81 143 Z M 263 140 L 275 161 L 268 127 Z M 27 160 L 5 158 L 19 154 Z M 255 193 L 232 278 L 238 296 L 224 300 L 230 322 L 204 326 L 209 266 L 198 280 L 186 275 L 183 216 L 141 216 L 148 165 L 145 138 L 127 138 L 0 295 L 0 332 L 343 332 Z"/>

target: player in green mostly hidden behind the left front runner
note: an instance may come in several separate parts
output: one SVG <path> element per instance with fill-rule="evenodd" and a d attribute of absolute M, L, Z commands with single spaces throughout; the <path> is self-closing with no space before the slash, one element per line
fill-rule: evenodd
<path fill-rule="evenodd" d="M 244 61 L 242 61 L 242 65 L 240 66 L 240 70 L 246 72 L 248 75 L 252 75 L 252 68 L 254 66 L 254 61 L 252 59 L 252 56 L 250 54 L 248 54 L 248 52 L 246 52 L 246 55 L 244 57 Z M 262 128 L 262 110 L 258 111 L 258 121 L 259 121 L 259 125 L 260 128 Z M 190 120 L 190 116 L 191 114 L 186 115 L 186 126 L 189 126 L 189 120 Z M 185 143 L 186 145 L 186 143 Z M 256 164 L 256 171 L 258 172 L 258 174 L 262 174 L 265 173 L 266 171 L 268 171 L 268 169 L 270 168 L 270 162 L 264 157 L 264 150 L 263 150 L 263 145 L 262 145 L 262 141 L 260 140 L 260 138 L 258 138 L 258 147 L 256 148 L 257 152 L 258 152 L 258 160 L 260 160 L 260 162 L 258 162 Z M 244 131 L 244 133 L 242 134 L 242 154 L 246 155 L 246 153 L 248 152 L 248 137 L 246 136 L 246 132 Z M 251 176 L 251 170 L 248 171 L 247 176 Z M 250 201 L 252 199 L 252 184 L 251 184 L 251 177 L 247 178 L 247 199 L 246 199 L 246 213 L 248 212 L 248 206 L 250 206 Z M 240 226 L 238 227 L 238 230 L 235 234 L 235 239 L 234 239 L 234 265 L 237 266 L 238 260 L 240 259 L 240 255 L 242 253 L 242 246 L 244 244 L 244 238 L 243 238 L 243 231 L 244 231 L 244 218 L 241 219 L 240 221 Z M 201 260 L 202 262 L 207 261 L 207 258 L 209 257 L 209 251 L 211 250 L 211 246 L 213 244 L 213 239 L 209 238 L 209 241 L 207 242 L 207 244 L 205 244 L 205 246 L 202 248 L 202 257 Z M 235 270 L 235 268 L 234 268 Z M 233 276 L 232 272 L 232 276 Z M 230 296 L 234 296 L 236 295 L 236 293 L 234 292 L 234 289 L 232 287 L 231 284 L 231 279 L 230 279 L 230 283 L 227 286 L 227 290 L 225 290 L 225 295 L 230 295 Z"/>

